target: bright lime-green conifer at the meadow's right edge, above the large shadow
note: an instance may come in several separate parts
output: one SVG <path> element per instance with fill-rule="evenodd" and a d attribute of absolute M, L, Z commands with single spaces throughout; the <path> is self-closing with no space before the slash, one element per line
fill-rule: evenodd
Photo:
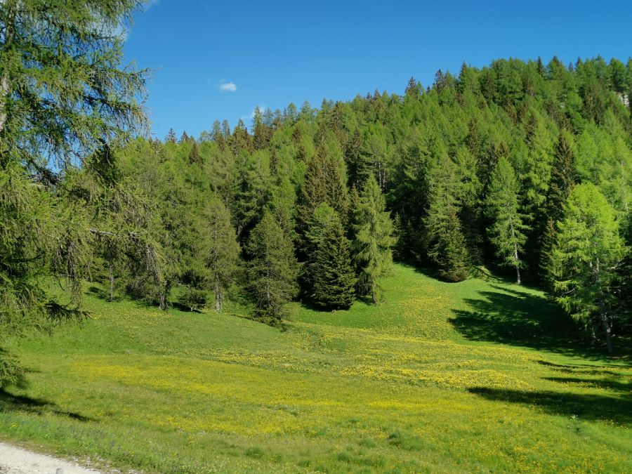
<path fill-rule="evenodd" d="M 558 302 L 575 320 L 593 331 L 601 327 L 612 344 L 612 291 L 626 248 L 612 206 L 595 185 L 573 188 L 558 223 L 549 271 Z"/>

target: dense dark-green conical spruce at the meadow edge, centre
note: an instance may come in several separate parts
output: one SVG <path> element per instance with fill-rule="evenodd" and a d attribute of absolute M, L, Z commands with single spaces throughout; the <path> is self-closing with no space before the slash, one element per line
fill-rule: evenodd
<path fill-rule="evenodd" d="M 321 308 L 349 308 L 355 299 L 355 270 L 349 241 L 336 211 L 327 204 L 318 206 L 307 236 L 310 298 Z"/>

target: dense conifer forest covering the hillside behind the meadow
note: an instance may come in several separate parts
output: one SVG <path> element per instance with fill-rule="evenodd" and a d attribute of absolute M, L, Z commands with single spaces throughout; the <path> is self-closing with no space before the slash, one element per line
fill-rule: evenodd
<path fill-rule="evenodd" d="M 109 298 L 220 310 L 238 280 L 278 324 L 293 298 L 378 303 L 393 253 L 447 282 L 507 268 L 610 345 L 631 308 L 631 67 L 497 60 L 403 96 L 257 109 L 251 129 L 100 150 L 64 192 L 106 230 L 91 275 Z"/>

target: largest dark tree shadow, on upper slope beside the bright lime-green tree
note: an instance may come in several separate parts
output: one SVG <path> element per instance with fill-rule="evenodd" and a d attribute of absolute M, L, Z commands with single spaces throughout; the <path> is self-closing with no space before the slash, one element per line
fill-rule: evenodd
<path fill-rule="evenodd" d="M 470 341 L 490 341 L 603 360 L 605 347 L 591 347 L 562 310 L 544 296 L 497 285 L 466 299 L 449 321 Z"/>

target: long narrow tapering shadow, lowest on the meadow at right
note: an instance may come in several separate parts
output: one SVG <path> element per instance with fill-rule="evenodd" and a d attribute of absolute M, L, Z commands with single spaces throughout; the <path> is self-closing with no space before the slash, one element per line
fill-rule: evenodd
<path fill-rule="evenodd" d="M 549 414 L 577 416 L 579 419 L 632 422 L 632 397 L 628 394 L 609 397 L 553 391 L 528 392 L 501 388 L 473 387 L 468 392 L 496 402 L 534 405 Z"/>

